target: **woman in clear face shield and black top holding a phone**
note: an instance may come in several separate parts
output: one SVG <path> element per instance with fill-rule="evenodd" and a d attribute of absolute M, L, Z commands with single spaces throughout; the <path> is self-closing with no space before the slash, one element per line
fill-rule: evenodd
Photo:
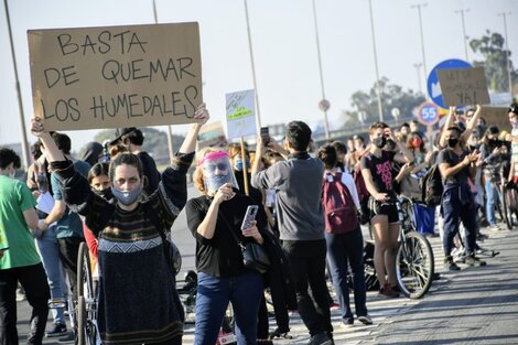
<path fill-rule="evenodd" d="M 185 206 L 187 225 L 196 239 L 198 271 L 194 344 L 216 343 L 229 302 L 236 317 L 238 344 L 256 344 L 262 276 L 245 268 L 233 233 L 245 244 L 262 245 L 258 226 L 266 226 L 266 219 L 260 217 L 250 228 L 241 230 L 247 207 L 257 203 L 236 193 L 236 177 L 226 152 L 214 149 L 201 152 L 194 184 L 202 196 L 190 200 Z"/>

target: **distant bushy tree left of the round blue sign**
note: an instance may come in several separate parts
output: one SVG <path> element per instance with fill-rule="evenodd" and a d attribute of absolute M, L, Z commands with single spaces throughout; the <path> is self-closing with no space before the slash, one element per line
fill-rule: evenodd
<path fill-rule="evenodd" d="M 398 108 L 400 117 L 409 117 L 412 115 L 412 110 L 422 104 L 425 98 L 419 93 L 414 93 L 412 89 L 404 90 L 402 86 L 396 84 L 389 84 L 389 79 L 381 77 L 379 80 L 381 88 L 381 107 L 384 111 L 384 119 L 392 119 L 391 110 Z M 346 110 L 345 116 L 347 117 L 344 128 L 349 126 L 357 126 L 361 122 L 360 114 L 364 114 L 365 123 L 374 123 L 379 121 L 378 111 L 378 94 L 376 84 L 370 88 L 368 93 L 358 90 L 350 97 L 350 103 L 354 110 Z"/>

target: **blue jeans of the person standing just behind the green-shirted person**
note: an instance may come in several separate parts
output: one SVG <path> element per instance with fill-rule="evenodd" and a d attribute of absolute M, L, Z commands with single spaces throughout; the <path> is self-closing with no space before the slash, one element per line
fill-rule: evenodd
<path fill-rule="evenodd" d="M 63 299 L 65 297 L 66 284 L 63 277 L 63 268 L 60 259 L 60 246 L 57 244 L 55 227 L 51 226 L 43 231 L 37 242 L 37 248 L 42 256 L 43 267 L 45 268 L 48 287 L 51 288 L 51 299 Z M 51 309 L 54 324 L 65 324 L 65 309 Z"/>

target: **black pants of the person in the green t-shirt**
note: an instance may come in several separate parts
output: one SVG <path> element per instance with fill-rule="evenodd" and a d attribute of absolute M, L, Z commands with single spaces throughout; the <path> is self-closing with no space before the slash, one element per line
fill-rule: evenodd
<path fill-rule="evenodd" d="M 42 344 L 51 291 L 42 263 L 0 270 L 0 345 L 18 345 L 17 287 L 25 290 L 32 306 L 28 344 Z"/>

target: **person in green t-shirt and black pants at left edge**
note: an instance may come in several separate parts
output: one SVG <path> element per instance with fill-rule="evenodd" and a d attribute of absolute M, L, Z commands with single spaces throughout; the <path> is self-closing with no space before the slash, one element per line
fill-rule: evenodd
<path fill-rule="evenodd" d="M 18 344 L 17 287 L 32 306 L 28 344 L 42 344 L 51 297 L 45 270 L 31 230 L 37 226 L 36 204 L 29 187 L 14 173 L 20 157 L 0 148 L 0 344 Z"/>

